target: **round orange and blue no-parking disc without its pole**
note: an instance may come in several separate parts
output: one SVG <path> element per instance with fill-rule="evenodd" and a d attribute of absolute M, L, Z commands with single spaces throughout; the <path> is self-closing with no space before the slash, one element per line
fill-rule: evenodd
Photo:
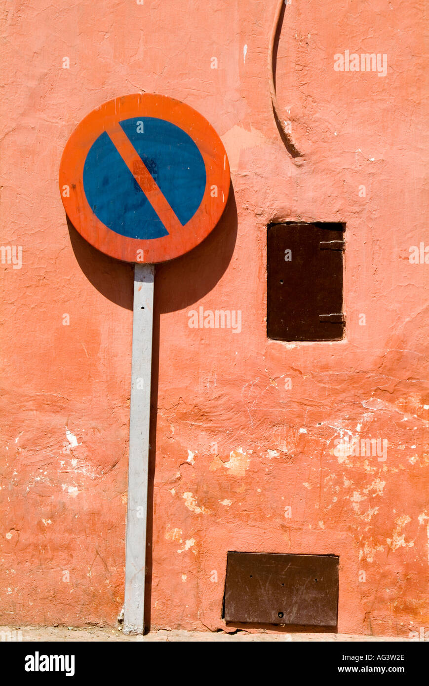
<path fill-rule="evenodd" d="M 69 220 L 106 255 L 156 263 L 216 226 L 230 185 L 227 153 L 196 110 L 164 95 L 125 95 L 82 119 L 62 154 Z"/>

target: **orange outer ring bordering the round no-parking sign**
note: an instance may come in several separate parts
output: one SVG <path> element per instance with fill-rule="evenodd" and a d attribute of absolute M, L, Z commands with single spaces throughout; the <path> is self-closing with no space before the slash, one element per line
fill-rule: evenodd
<path fill-rule="evenodd" d="M 160 238 L 142 240 L 115 233 L 95 216 L 84 192 L 84 163 L 91 145 L 106 129 L 132 117 L 157 117 L 183 129 L 205 163 L 206 187 L 198 210 L 187 224 Z M 62 153 L 59 182 L 69 220 L 94 248 L 126 262 L 158 263 L 184 255 L 209 235 L 227 204 L 231 177 L 224 145 L 205 117 L 172 97 L 135 93 L 109 100 L 82 119 Z M 62 194 L 65 186 L 69 187 L 69 197 Z M 211 196 L 213 186 L 217 187 L 217 197 Z"/>

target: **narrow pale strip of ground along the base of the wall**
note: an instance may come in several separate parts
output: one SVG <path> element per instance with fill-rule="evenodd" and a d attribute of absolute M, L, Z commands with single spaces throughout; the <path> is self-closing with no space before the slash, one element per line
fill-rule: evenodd
<path fill-rule="evenodd" d="M 146 636 L 124 635 L 113 628 L 74 628 L 67 626 L 0 626 L 1 641 L 408 641 L 406 638 L 386 636 L 359 636 L 352 634 L 306 633 L 285 634 L 274 632 L 246 632 L 233 634 L 223 631 L 158 630 Z"/>

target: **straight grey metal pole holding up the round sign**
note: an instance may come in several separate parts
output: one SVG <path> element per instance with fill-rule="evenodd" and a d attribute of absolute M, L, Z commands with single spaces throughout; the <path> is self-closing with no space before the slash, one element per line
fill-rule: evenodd
<path fill-rule="evenodd" d="M 124 601 L 126 634 L 142 633 L 144 628 L 153 301 L 154 265 L 135 264 Z"/>

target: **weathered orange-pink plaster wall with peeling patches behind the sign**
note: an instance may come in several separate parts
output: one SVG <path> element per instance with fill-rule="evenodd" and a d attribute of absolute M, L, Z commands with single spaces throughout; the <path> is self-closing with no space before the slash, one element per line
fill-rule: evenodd
<path fill-rule="evenodd" d="M 246 550 L 338 554 L 340 632 L 429 627 L 423 3 L 286 6 L 296 160 L 270 106 L 275 5 L 1 3 L 1 245 L 22 266 L 1 265 L 0 622 L 113 624 L 123 603 L 132 268 L 68 229 L 57 180 L 86 113 L 147 91 L 209 119 L 235 196 L 156 269 L 152 626 L 222 627 L 227 551 Z M 335 71 L 346 50 L 386 54 L 386 75 Z M 267 340 L 273 220 L 347 223 L 343 341 Z M 199 307 L 242 330 L 189 328 Z"/>

